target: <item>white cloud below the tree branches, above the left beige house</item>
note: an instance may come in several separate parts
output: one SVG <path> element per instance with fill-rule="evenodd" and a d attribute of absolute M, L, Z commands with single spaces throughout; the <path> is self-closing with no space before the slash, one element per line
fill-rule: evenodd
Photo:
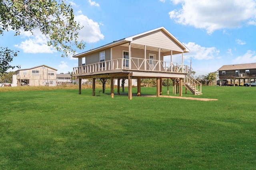
<path fill-rule="evenodd" d="M 20 44 L 14 45 L 23 50 L 24 53 L 55 53 L 56 49 L 47 45 L 47 38 L 38 33 L 38 31 L 34 31 L 34 35 L 30 32 L 21 32 L 21 36 L 32 37 L 22 41 Z"/>

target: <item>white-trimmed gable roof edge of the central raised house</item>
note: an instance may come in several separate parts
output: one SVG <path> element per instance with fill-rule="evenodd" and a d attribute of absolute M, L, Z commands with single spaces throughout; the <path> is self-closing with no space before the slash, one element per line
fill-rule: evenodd
<path fill-rule="evenodd" d="M 103 45 L 103 46 L 95 48 L 95 49 L 90 49 L 90 50 L 85 51 L 83 53 L 73 55 L 73 57 L 79 57 L 81 55 L 85 56 L 85 55 L 88 55 L 90 53 L 94 53 L 94 52 L 97 52 L 97 51 L 103 51 L 104 49 L 107 49 L 107 48 L 115 47 L 115 46 L 118 46 L 118 45 L 123 45 L 123 44 L 126 44 L 126 43 L 129 43 L 129 42 L 132 42 L 132 41 L 136 40 L 136 38 L 138 38 L 138 37 L 141 37 L 143 35 L 147 35 L 147 34 L 155 32 L 155 31 L 159 31 L 159 30 L 163 31 L 168 37 L 170 37 L 170 39 L 172 39 L 177 45 L 179 45 L 182 48 L 184 53 L 190 52 L 190 50 L 183 43 L 181 43 L 176 37 L 174 37 L 174 35 L 172 35 L 165 27 L 159 27 L 159 28 L 152 29 L 152 30 L 149 30 L 149 31 L 146 31 L 146 32 L 143 32 L 143 33 L 136 34 L 136 35 L 132 35 L 130 37 L 126 37 L 126 38 L 123 38 L 123 39 L 120 39 L 120 40 L 117 40 L 117 41 L 113 41 L 112 43 L 108 43 L 106 45 Z"/>

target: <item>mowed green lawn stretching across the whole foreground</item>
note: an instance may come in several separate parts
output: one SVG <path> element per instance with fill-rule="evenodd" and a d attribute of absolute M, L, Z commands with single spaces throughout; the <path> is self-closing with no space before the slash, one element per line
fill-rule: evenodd
<path fill-rule="evenodd" d="M 218 101 L 0 92 L 0 169 L 256 169 L 256 87 L 202 89 L 183 96 Z"/>

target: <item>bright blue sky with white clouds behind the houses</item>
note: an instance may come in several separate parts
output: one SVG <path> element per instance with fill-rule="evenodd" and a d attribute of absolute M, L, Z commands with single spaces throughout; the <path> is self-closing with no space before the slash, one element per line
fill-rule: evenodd
<path fill-rule="evenodd" d="M 206 75 L 225 64 L 256 63 L 255 0 L 70 0 L 75 19 L 84 25 L 81 53 L 115 40 L 164 26 L 190 53 L 184 64 L 196 75 Z M 34 35 L 4 32 L 1 47 L 17 49 L 12 65 L 31 68 L 48 65 L 67 73 L 78 66 L 77 59 L 62 58 L 46 45 L 40 32 Z M 10 70 L 9 70 L 10 71 Z"/>

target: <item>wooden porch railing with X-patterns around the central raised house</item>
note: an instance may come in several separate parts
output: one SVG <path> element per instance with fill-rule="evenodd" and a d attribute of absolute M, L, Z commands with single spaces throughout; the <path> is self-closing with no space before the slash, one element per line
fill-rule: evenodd
<path fill-rule="evenodd" d="M 151 59 L 131 58 L 114 59 L 73 68 L 74 74 L 85 74 L 107 70 L 140 70 L 152 72 L 188 73 L 188 66 L 182 63 L 173 63 Z"/>

